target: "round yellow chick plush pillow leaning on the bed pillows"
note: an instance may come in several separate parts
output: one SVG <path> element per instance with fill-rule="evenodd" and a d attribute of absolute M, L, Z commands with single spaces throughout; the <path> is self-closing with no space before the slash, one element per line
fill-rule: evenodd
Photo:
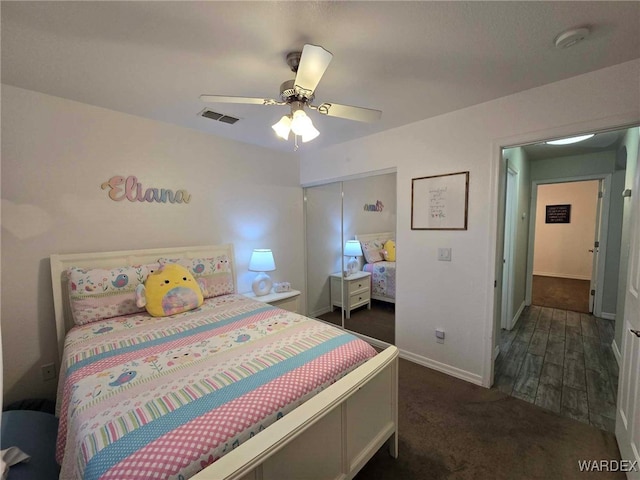
<path fill-rule="evenodd" d="M 136 305 L 154 317 L 188 312 L 204 302 L 200 284 L 182 265 L 167 264 L 136 288 Z"/>

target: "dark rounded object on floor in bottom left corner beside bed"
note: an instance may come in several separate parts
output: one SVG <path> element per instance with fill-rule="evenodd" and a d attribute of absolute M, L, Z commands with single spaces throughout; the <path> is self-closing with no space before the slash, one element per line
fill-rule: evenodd
<path fill-rule="evenodd" d="M 34 410 L 10 410 L 2 413 L 0 446 L 18 447 L 31 456 L 26 463 L 9 469 L 8 480 L 55 480 L 60 475 L 56 463 L 58 419 L 50 413 Z"/>

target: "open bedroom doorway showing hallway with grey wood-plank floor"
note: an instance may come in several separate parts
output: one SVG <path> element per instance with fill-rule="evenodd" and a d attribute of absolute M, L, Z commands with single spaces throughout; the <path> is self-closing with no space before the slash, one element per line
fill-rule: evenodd
<path fill-rule="evenodd" d="M 622 138 L 627 129 L 620 132 L 606 132 L 611 138 Z M 597 137 L 597 135 L 596 135 Z M 601 144 L 605 142 L 602 141 Z M 619 143 L 614 140 L 609 143 L 610 151 L 601 150 L 591 151 L 587 153 L 587 149 L 573 149 L 567 151 L 566 154 L 558 154 L 553 157 L 541 155 L 541 151 L 546 146 L 523 146 L 504 149 L 503 162 L 500 178 L 502 183 L 502 196 L 505 205 L 500 210 L 503 217 L 505 236 L 513 232 L 513 228 L 509 227 L 510 208 L 508 202 L 517 204 L 516 228 L 513 239 L 516 247 L 513 248 L 515 255 L 514 264 L 519 265 L 525 257 L 526 267 L 516 273 L 515 282 L 508 281 L 504 277 L 509 275 L 505 268 L 505 263 L 496 266 L 497 272 L 503 272 L 503 277 L 497 284 L 502 287 L 502 291 L 496 295 L 496 311 L 502 311 L 505 308 L 509 310 L 508 301 L 511 298 L 515 308 L 516 316 L 514 318 L 512 330 L 505 327 L 505 314 L 496 315 L 497 328 L 496 343 L 499 347 L 497 358 L 494 362 L 494 388 L 498 388 L 505 393 L 521 398 L 528 402 L 539 405 L 543 408 L 552 410 L 560 415 L 568 416 L 584 423 L 591 424 L 598 428 L 613 431 L 615 429 L 615 406 L 617 396 L 618 383 L 618 362 L 616 355 L 611 348 L 615 345 L 615 324 L 613 322 L 615 315 L 615 302 L 613 308 L 604 307 L 603 300 L 598 300 L 598 288 L 603 285 L 599 275 L 591 275 L 593 272 L 600 272 L 603 266 L 613 267 L 615 272 L 609 275 L 609 289 L 612 290 L 613 296 L 617 293 L 617 283 L 612 286 L 611 278 L 615 277 L 617 282 L 617 269 L 619 267 L 619 257 L 609 255 L 609 249 L 606 250 L 606 243 L 600 244 L 600 250 L 595 251 L 594 242 L 596 241 L 596 226 L 594 220 L 599 218 L 605 234 L 610 234 L 611 229 L 606 228 L 606 214 L 613 212 L 614 206 L 605 201 L 607 198 L 603 196 L 600 200 L 601 215 L 597 214 L 597 206 L 593 209 L 591 215 L 591 233 L 583 234 L 583 240 L 587 243 L 581 252 L 587 256 L 587 273 L 582 274 L 580 280 L 583 281 L 586 292 L 590 293 L 592 278 L 597 285 L 596 296 L 594 298 L 594 312 L 602 312 L 603 315 L 596 317 L 589 313 L 578 312 L 575 309 L 554 308 L 552 306 L 535 305 L 532 301 L 533 278 L 534 271 L 536 273 L 558 273 L 550 269 L 538 268 L 534 269 L 534 238 L 536 234 L 536 216 L 542 214 L 543 222 L 545 221 L 546 206 L 555 205 L 571 205 L 569 209 L 569 221 L 575 222 L 578 211 L 573 200 L 566 201 L 561 198 L 548 199 L 543 203 L 542 208 L 537 208 L 537 197 L 546 185 L 552 183 L 574 183 L 578 181 L 592 181 L 596 184 L 601 183 L 605 193 L 610 191 L 622 191 L 624 188 L 624 180 L 615 183 L 615 177 L 624 178 L 624 166 L 618 172 L 615 164 L 615 158 Z M 537 150 L 536 150 L 537 149 Z M 590 154 L 590 156 L 589 156 Z M 587 155 L 584 157 L 584 155 Z M 517 200 L 514 196 L 509 195 L 509 181 L 511 176 L 508 169 L 515 159 L 518 176 L 521 177 L 518 182 L 520 194 Z M 595 173 L 602 172 L 602 173 Z M 612 187 L 613 185 L 613 187 Z M 527 187 L 530 191 L 527 191 Z M 602 190 L 602 189 L 601 189 Z M 523 197 L 526 201 L 523 202 Z M 510 198 L 511 200 L 508 200 Z M 597 198 L 597 188 L 595 198 Z M 534 201 L 535 199 L 535 201 Z M 594 204 L 596 200 L 593 201 Z M 621 207 L 620 207 L 621 209 Z M 559 208 L 556 215 L 562 216 L 562 208 Z M 565 209 L 566 210 L 566 209 Z M 583 216 L 582 213 L 579 214 Z M 524 228 L 523 219 L 528 216 L 526 223 L 528 224 L 528 232 L 525 233 L 525 240 L 521 238 Z M 569 224 L 570 225 L 570 224 Z M 567 224 L 556 223 L 549 226 L 566 227 Z M 611 235 L 609 235 L 611 236 Z M 612 237 L 613 238 L 613 237 Z M 614 242 L 614 249 L 620 249 L 619 238 Z M 527 240 L 528 239 L 528 240 Z M 606 240 L 606 239 L 605 239 Z M 602 238 L 600 238 L 602 241 Z M 556 239 L 553 248 L 558 244 Z M 500 239 L 498 258 L 505 261 L 509 258 L 509 241 L 506 238 Z M 538 246 L 536 246 L 537 248 Z M 574 249 L 577 249 L 574 246 Z M 594 249 L 594 252 L 588 250 Z M 502 252 L 500 250 L 503 250 Z M 601 255 L 594 255 L 599 253 Z M 619 252 L 618 252 L 619 254 Z M 565 254 L 566 256 L 566 254 Z M 564 256 L 561 256 L 564 259 Z M 610 260 L 610 265 L 606 265 L 605 261 Z M 596 267 L 593 268 L 595 263 Z M 550 276 L 553 278 L 553 276 Z M 509 291 L 507 286 L 513 290 Z M 520 288 L 520 291 L 517 291 Z M 515 295 L 514 295 L 515 293 Z M 585 293 L 586 296 L 586 293 Z M 505 297 L 507 297 L 505 299 Z M 585 308 L 588 312 L 589 302 L 586 300 Z M 523 308 L 519 311 L 518 306 Z M 611 302 L 609 301 L 609 305 Z M 611 309 L 609 309 L 611 308 Z M 521 312 L 521 313 L 520 313 Z"/>

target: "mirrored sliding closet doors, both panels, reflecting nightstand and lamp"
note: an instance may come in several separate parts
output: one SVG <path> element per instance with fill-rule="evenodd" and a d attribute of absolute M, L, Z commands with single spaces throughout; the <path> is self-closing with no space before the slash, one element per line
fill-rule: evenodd
<path fill-rule="evenodd" d="M 396 174 L 305 188 L 307 315 L 395 343 Z"/>

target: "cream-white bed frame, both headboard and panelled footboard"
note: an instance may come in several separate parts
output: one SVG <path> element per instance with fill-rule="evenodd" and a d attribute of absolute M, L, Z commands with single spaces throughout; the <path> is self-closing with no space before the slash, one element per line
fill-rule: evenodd
<path fill-rule="evenodd" d="M 233 245 L 156 248 L 51 255 L 59 357 L 73 326 L 69 267 L 113 268 L 153 263 L 160 257 L 202 258 L 226 254 L 236 272 Z M 237 288 L 237 287 L 236 287 Z M 195 480 L 351 479 L 388 442 L 398 457 L 398 349 L 388 347 L 191 477 Z"/>

